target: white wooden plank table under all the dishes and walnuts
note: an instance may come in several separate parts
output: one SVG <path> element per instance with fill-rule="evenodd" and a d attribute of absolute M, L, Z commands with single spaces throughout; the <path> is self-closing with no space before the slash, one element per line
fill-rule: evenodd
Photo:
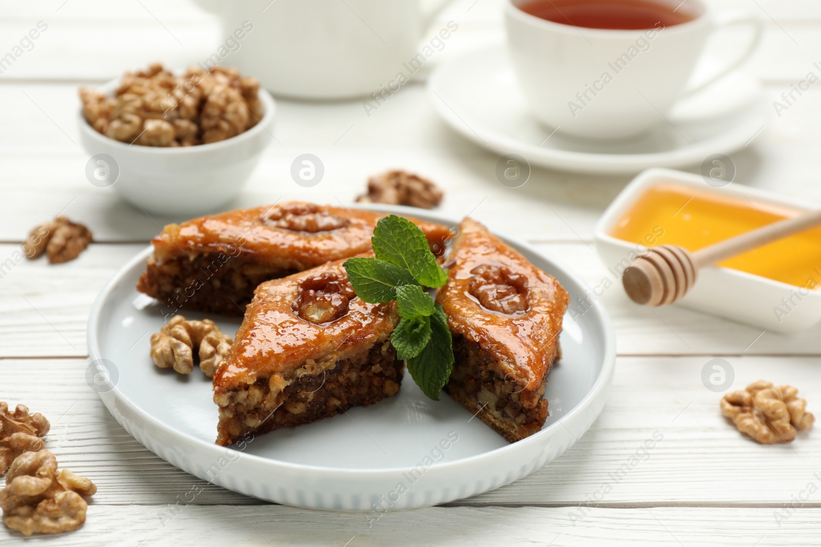
<path fill-rule="evenodd" d="M 332 1 L 332 0 L 328 0 Z M 116 5 L 115 5 L 116 3 Z M 767 21 L 750 70 L 777 98 L 815 70 L 821 4 L 814 0 L 716 0 Z M 460 0 L 440 22 L 460 30 L 442 55 L 501 34 L 501 0 Z M 327 513 L 246 498 L 203 483 L 154 456 L 109 415 L 85 384 L 85 324 L 103 284 L 172 220 L 150 218 L 112 189 L 85 180 L 76 88 L 154 59 L 186 66 L 220 41 L 218 22 L 189 2 L 5 0 L 0 55 L 37 21 L 48 30 L 0 75 L 0 262 L 31 226 L 64 211 L 95 242 L 79 259 L 23 261 L 0 279 L 0 400 L 25 403 L 52 422 L 47 446 L 98 486 L 80 531 L 37 545 L 821 545 L 821 435 L 761 446 L 721 417 L 720 394 L 702 385 L 705 362 L 726 359 L 736 389 L 767 378 L 796 385 L 821 411 L 821 330 L 794 338 L 682 308 L 631 305 L 603 295 L 617 330 L 617 372 L 602 416 L 562 458 L 499 490 L 445 507 L 390 513 L 373 527 L 363 514 Z M 438 28 L 438 27 L 437 27 Z M 732 48 L 717 40 L 714 48 Z M 228 63 L 230 64 L 230 63 Z M 534 170 L 519 189 L 498 183 L 498 156 L 449 130 L 429 106 L 424 82 L 406 85 L 371 116 L 359 102 L 280 101 L 274 143 L 236 207 L 305 198 L 350 201 L 367 175 L 401 167 L 447 192 L 444 214 L 472 215 L 493 230 L 538 244 L 590 285 L 606 275 L 592 232 L 630 177 Z M 821 88 L 812 88 L 740 153 L 736 180 L 821 203 Z M 311 189 L 288 175 L 300 153 L 326 175 Z M 544 199 L 550 204 L 545 207 Z M 816 428 L 817 429 L 817 428 Z M 649 458 L 614 479 L 654 432 Z M 165 526 L 160 512 L 192 485 L 204 491 Z M 610 490 L 602 494 L 605 485 Z M 810 492 L 811 490 L 811 492 Z M 819 491 L 816 491 L 819 490 Z M 0 544 L 24 539 L 0 527 Z"/>

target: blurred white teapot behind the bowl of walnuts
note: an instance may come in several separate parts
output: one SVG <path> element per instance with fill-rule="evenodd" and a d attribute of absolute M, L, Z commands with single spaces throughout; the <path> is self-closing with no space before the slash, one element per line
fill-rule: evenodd
<path fill-rule="evenodd" d="M 448 0 L 435 1 L 425 12 L 420 0 L 196 0 L 221 17 L 224 36 L 198 64 L 236 66 L 288 97 L 378 93 L 424 64 L 422 33 Z"/>

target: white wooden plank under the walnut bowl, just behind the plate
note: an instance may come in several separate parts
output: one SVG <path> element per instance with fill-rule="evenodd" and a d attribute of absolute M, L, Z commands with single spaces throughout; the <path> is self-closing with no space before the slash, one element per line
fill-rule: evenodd
<path fill-rule="evenodd" d="M 85 221 L 99 241 L 147 240 L 159 226 L 186 220 L 149 216 L 113 188 L 89 184 L 89 155 L 80 148 L 77 131 L 76 89 L 77 84 L 0 84 L 0 102 L 7 105 L 0 121 L 0 189 L 16 204 L 0 217 L 0 241 L 20 241 L 33 223 L 63 210 Z M 789 84 L 768 86 L 768 101 L 787 91 Z M 815 153 L 814 139 L 821 138 L 816 123 L 821 88 L 811 87 L 780 114 L 773 111 L 773 120 L 750 145 L 732 154 L 735 180 L 821 207 L 821 185 L 814 184 L 807 161 Z M 351 203 L 364 191 L 369 175 L 402 168 L 443 187 L 440 211 L 447 217 L 472 214 L 493 230 L 530 241 L 590 242 L 602 212 L 632 178 L 534 167 L 527 184 L 507 188 L 495 175 L 498 154 L 470 144 L 444 125 L 421 84 L 406 85 L 370 116 L 355 101 L 281 100 L 274 136 L 279 144 L 266 149 L 239 198 L 225 208 L 277 199 Z M 323 180 L 310 189 L 290 176 L 291 162 L 305 150 L 325 166 Z M 43 154 L 48 162 L 42 161 Z"/>

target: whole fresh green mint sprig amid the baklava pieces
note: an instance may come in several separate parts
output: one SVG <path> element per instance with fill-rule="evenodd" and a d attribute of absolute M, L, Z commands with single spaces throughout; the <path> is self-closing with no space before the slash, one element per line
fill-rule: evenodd
<path fill-rule="evenodd" d="M 344 264 L 360 299 L 397 301 L 401 320 L 391 335 L 397 357 L 422 392 L 434 401 L 453 371 L 447 316 L 424 287 L 441 287 L 447 273 L 430 252 L 424 232 L 406 218 L 380 218 L 371 238 L 376 258 L 351 258 Z"/>

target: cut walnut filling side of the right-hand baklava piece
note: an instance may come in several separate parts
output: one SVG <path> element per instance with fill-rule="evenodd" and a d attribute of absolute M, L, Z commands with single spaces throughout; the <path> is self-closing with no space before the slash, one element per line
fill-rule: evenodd
<path fill-rule="evenodd" d="M 548 417 L 548 402 L 541 399 L 547 375 L 539 389 L 530 392 L 515 378 L 500 374 L 493 356 L 464 336 L 454 335 L 453 353 L 456 366 L 445 386 L 453 399 L 511 442 L 541 429 Z M 528 407 L 528 401 L 534 406 Z"/>

